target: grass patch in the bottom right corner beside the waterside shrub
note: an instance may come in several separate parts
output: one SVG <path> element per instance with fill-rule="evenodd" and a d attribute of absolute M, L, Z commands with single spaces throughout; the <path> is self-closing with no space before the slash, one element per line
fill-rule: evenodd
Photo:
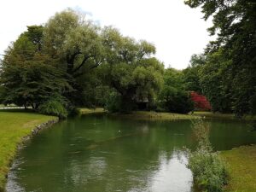
<path fill-rule="evenodd" d="M 242 146 L 220 153 L 230 173 L 226 192 L 256 191 L 256 145 Z"/>

